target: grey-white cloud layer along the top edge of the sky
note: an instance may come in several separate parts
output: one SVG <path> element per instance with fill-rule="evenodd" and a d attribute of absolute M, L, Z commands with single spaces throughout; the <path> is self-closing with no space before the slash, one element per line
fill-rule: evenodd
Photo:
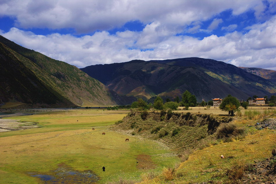
<path fill-rule="evenodd" d="M 121 27 L 134 20 L 145 25 L 159 22 L 163 29 L 181 30 L 225 10 L 231 9 L 237 15 L 254 8 L 256 16 L 262 17 L 264 5 L 259 0 L 9 0 L 0 2 L 0 16 L 15 18 L 17 28 L 73 28 L 78 33 L 86 33 Z M 273 11 L 273 7 L 268 9 Z M 209 29 L 219 23 L 220 19 L 214 19 Z"/>

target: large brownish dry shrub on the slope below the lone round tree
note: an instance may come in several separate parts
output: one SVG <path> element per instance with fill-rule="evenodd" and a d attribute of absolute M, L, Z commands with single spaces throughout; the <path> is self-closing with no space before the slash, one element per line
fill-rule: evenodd
<path fill-rule="evenodd" d="M 232 123 L 221 123 L 217 128 L 217 138 L 231 138 L 237 137 L 244 133 L 243 129 L 237 128 L 236 125 Z"/>

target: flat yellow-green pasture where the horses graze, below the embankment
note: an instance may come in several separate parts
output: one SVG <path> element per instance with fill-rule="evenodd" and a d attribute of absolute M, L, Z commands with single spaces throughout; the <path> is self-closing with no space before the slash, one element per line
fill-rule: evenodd
<path fill-rule="evenodd" d="M 144 172 L 175 165 L 178 160 L 169 154 L 171 151 L 157 142 L 112 131 L 108 125 L 127 113 L 82 109 L 68 114 L 64 111 L 8 117 L 38 122 L 40 128 L 0 133 L 0 183 L 41 183 L 31 173 L 51 175 L 59 164 L 80 172 L 92 170 L 101 178 L 100 183 L 119 178 L 139 181 Z M 138 168 L 148 163 L 150 169 Z"/>

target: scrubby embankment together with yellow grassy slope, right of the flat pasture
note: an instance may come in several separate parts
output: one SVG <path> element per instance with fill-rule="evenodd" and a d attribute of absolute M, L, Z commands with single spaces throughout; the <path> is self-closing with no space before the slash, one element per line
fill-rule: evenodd
<path fill-rule="evenodd" d="M 162 110 L 149 111 L 146 119 L 141 119 L 141 112 L 132 110 L 117 128 L 128 130 L 135 121 L 136 126 L 131 129 L 136 135 L 163 141 L 179 153 L 183 162 L 179 167 L 164 168 L 153 179 L 144 178 L 145 183 L 151 180 L 152 183 L 234 184 L 246 179 L 245 172 L 252 169 L 251 163 L 270 157 L 268 150 L 276 147 L 274 130 L 254 126 L 262 119 L 275 118 L 276 110 L 238 112 L 231 118 Z M 275 165 L 271 161 L 271 168 Z"/>

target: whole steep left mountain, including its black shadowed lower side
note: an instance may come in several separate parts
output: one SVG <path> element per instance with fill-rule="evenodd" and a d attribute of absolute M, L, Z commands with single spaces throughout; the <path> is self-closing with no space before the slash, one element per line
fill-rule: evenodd
<path fill-rule="evenodd" d="M 103 83 L 68 63 L 0 36 L 0 99 L 38 106 L 117 105 Z"/>

